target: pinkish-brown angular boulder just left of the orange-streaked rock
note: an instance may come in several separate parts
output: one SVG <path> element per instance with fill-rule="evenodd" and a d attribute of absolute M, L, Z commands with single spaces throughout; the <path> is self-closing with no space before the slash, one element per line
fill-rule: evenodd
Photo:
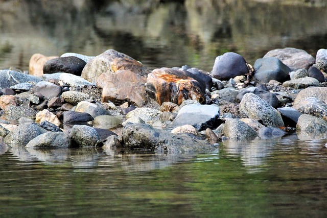
<path fill-rule="evenodd" d="M 145 83 L 145 77 L 130 70 L 104 73 L 97 79 L 97 87 L 103 88 L 101 102 L 128 102 L 138 107 L 147 103 Z"/>

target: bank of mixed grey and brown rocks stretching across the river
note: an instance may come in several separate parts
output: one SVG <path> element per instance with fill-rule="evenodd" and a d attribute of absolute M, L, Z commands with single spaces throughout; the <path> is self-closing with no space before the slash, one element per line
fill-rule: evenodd
<path fill-rule="evenodd" d="M 0 149 L 103 147 L 204 153 L 224 140 L 325 138 L 327 50 L 276 49 L 211 72 L 149 70 L 115 50 L 34 54 L 28 74 L 0 70 Z"/>

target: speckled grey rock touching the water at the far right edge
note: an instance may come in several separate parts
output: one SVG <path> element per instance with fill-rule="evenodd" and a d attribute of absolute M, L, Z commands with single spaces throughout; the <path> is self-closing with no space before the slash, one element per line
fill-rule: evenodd
<path fill-rule="evenodd" d="M 296 125 L 296 131 L 321 134 L 327 132 L 327 122 L 326 120 L 320 119 L 316 116 L 309 114 L 303 114 L 298 118 Z"/>

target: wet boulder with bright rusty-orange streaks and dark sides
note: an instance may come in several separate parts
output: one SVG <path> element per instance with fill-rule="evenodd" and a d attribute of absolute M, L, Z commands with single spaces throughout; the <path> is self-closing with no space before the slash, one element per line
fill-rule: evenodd
<path fill-rule="evenodd" d="M 205 102 L 205 96 L 198 81 L 185 76 L 180 70 L 166 67 L 152 70 L 147 78 L 146 91 L 159 105 L 164 102 L 180 105 L 188 99 L 200 103 Z"/>

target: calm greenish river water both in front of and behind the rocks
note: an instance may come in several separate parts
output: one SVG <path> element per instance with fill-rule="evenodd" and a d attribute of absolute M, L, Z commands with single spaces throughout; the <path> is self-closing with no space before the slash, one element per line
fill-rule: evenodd
<path fill-rule="evenodd" d="M 237 0 L 0 0 L 0 69 L 27 71 L 34 53 L 107 49 L 149 68 L 206 71 L 230 51 L 250 64 L 283 47 L 315 56 L 327 48 L 326 12 Z M 0 146 L 0 217 L 326 217 L 326 143 L 291 134 L 208 154 Z"/>

